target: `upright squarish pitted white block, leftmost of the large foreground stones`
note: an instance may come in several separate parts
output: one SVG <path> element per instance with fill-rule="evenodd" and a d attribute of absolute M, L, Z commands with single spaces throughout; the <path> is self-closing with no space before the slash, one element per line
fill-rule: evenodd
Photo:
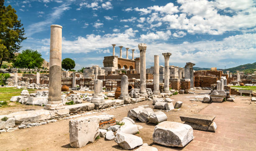
<path fill-rule="evenodd" d="M 100 120 L 97 116 L 87 116 L 69 121 L 70 146 L 80 148 L 93 143 L 99 132 Z"/>

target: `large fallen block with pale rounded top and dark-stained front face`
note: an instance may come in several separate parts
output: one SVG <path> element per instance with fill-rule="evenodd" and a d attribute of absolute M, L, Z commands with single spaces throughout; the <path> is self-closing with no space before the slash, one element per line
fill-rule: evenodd
<path fill-rule="evenodd" d="M 171 121 L 159 123 L 153 133 L 154 143 L 164 146 L 184 147 L 192 139 L 194 136 L 191 126 Z"/>

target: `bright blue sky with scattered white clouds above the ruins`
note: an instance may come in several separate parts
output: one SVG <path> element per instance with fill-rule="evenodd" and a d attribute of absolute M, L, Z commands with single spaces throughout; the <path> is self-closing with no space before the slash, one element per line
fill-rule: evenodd
<path fill-rule="evenodd" d="M 25 28 L 21 50 L 38 50 L 49 61 L 50 25 L 62 28 L 62 59 L 75 70 L 100 65 L 112 45 L 146 43 L 146 66 L 170 52 L 170 65 L 231 68 L 256 62 L 256 2 L 253 0 L 5 0 Z"/>

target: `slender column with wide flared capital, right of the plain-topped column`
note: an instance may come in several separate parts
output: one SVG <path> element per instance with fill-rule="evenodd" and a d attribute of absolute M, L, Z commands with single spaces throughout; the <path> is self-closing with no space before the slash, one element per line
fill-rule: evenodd
<path fill-rule="evenodd" d="M 169 58 L 172 53 L 162 53 L 164 55 L 164 93 L 170 93 L 169 88 L 169 78 L 170 78 L 170 70 L 169 70 Z"/>

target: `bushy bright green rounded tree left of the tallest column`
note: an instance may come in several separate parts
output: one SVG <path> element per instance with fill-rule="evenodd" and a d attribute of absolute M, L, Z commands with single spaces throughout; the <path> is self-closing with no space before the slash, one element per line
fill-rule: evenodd
<path fill-rule="evenodd" d="M 20 53 L 13 65 L 18 68 L 41 68 L 44 59 L 41 57 L 41 53 L 38 53 L 36 50 L 23 50 Z"/>

